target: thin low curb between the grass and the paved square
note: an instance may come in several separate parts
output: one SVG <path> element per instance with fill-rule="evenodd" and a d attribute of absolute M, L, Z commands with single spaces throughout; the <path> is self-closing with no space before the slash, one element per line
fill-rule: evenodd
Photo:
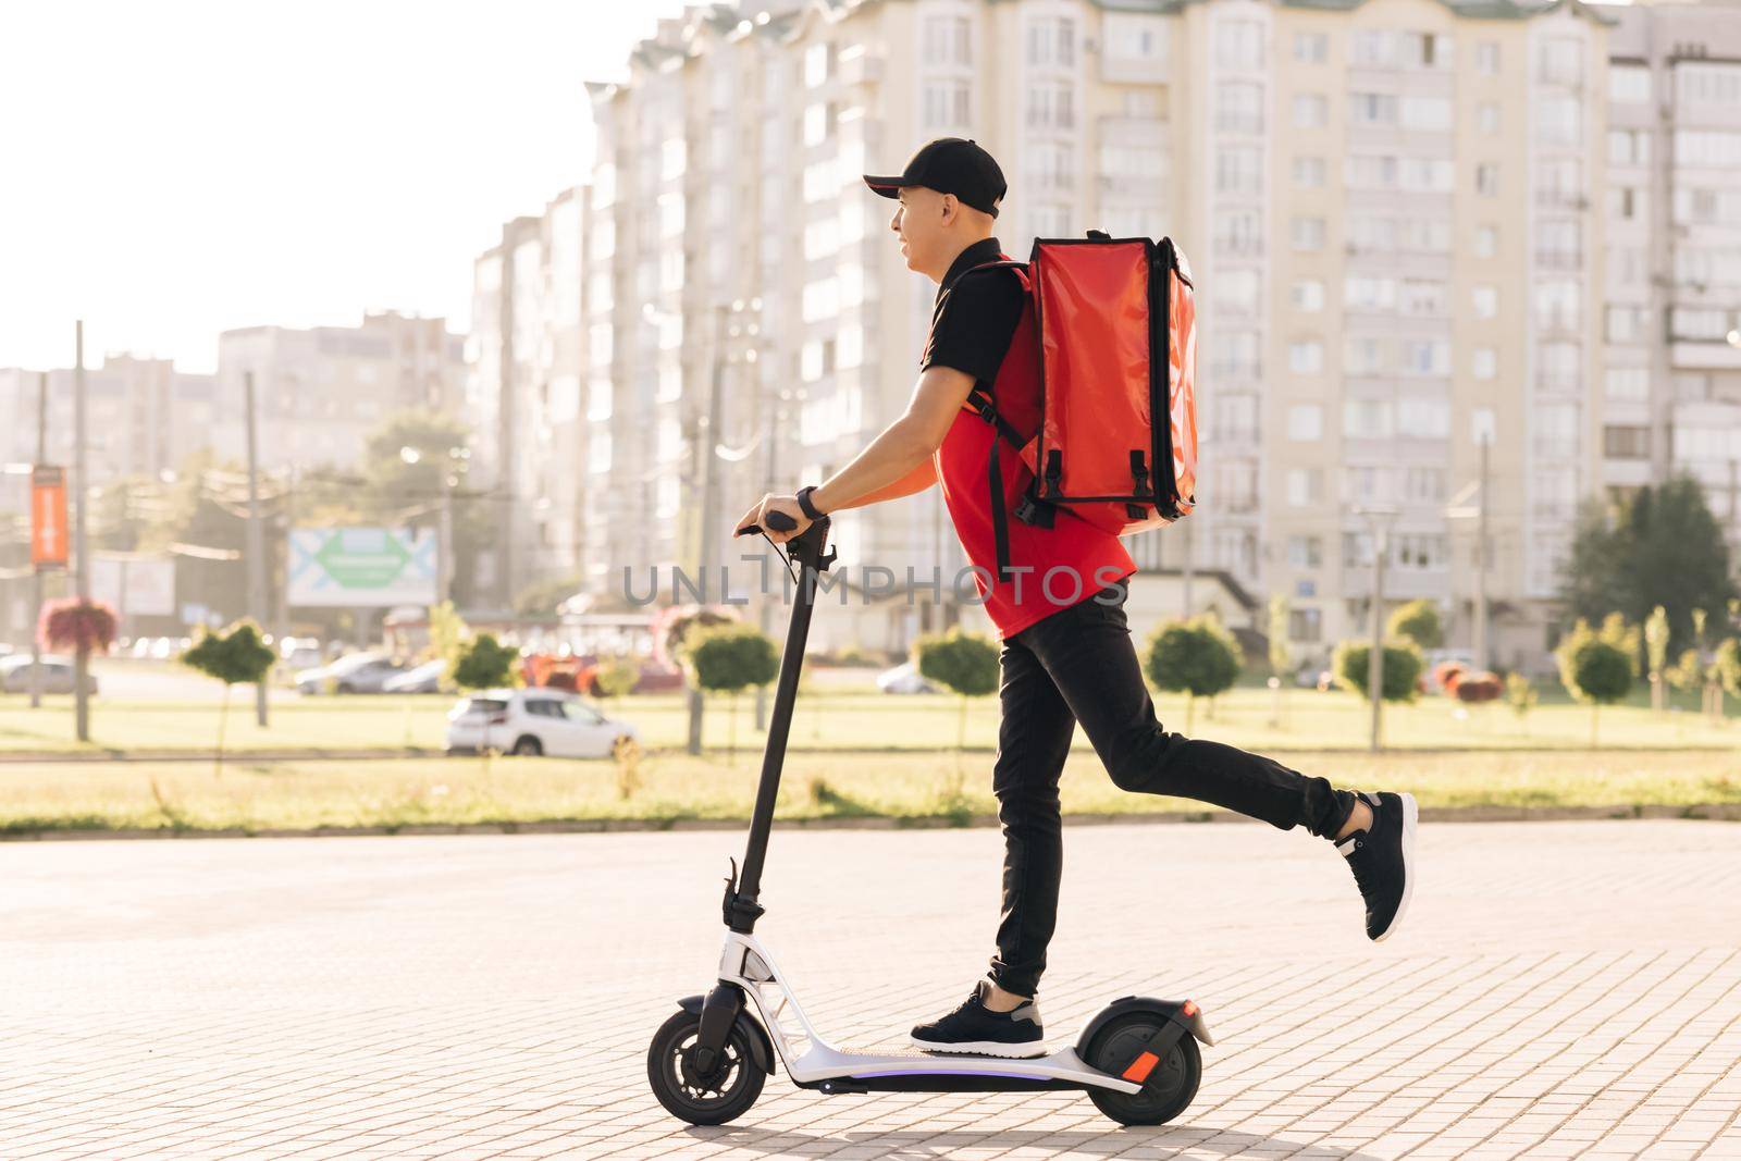
<path fill-rule="evenodd" d="M 1591 822 L 1591 820 L 1661 820 L 1741 822 L 1741 802 L 1696 802 L 1689 806 L 1422 806 L 1421 822 Z M 745 818 L 594 818 L 571 822 L 440 823 L 409 827 L 313 827 L 303 830 L 30 830 L 0 834 L 0 842 L 78 842 L 103 839 L 339 839 L 385 836 L 454 836 L 454 834 L 623 834 L 658 830 L 742 830 Z M 1255 823 L 1259 820 L 1231 811 L 1154 811 L 1144 815 L 1065 815 L 1071 827 L 1112 827 L 1149 823 Z M 794 818 L 782 820 L 782 830 L 944 830 L 989 829 L 996 815 L 949 815 L 916 818 Z"/>

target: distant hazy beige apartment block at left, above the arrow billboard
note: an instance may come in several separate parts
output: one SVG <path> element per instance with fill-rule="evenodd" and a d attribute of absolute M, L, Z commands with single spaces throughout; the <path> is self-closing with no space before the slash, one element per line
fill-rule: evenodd
<path fill-rule="evenodd" d="M 461 345 L 442 319 L 393 312 L 364 315 L 355 327 L 225 331 L 218 336 L 218 454 L 247 456 L 244 376 L 252 372 L 263 472 L 355 470 L 387 416 L 458 406 Z"/>

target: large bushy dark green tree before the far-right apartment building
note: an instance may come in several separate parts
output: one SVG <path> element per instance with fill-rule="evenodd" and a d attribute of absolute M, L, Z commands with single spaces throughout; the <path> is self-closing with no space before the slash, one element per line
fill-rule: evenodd
<path fill-rule="evenodd" d="M 1696 644 L 1692 609 L 1722 609 L 1736 595 L 1722 527 L 1687 475 L 1642 487 L 1617 510 L 1586 505 L 1560 576 L 1572 621 L 1617 611 L 1638 623 L 1663 606 L 1671 651 Z"/>

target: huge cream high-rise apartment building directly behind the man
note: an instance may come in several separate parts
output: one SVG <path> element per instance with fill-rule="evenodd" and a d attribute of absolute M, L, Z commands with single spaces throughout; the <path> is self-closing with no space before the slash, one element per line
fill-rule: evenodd
<path fill-rule="evenodd" d="M 1537 663 L 1621 426 L 1598 308 L 1612 24 L 1576 0 L 817 0 L 665 21 L 625 82 L 590 87 L 588 585 L 695 566 L 696 524 L 726 534 L 740 498 L 818 479 L 898 414 L 933 287 L 858 174 L 959 134 L 1010 178 L 1010 254 L 1172 235 L 1198 275 L 1200 508 L 1137 538 L 1139 564 L 1189 552 L 1288 595 L 1295 653 L 1321 656 L 1368 618 L 1356 510 L 1395 508 L 1388 599 L 1438 601 L 1466 644 L 1478 555 L 1457 513 L 1485 498 L 1490 660 Z M 1696 204 L 1715 230 L 1717 202 Z M 709 513 L 717 447 L 738 454 Z M 933 498 L 837 527 L 843 560 L 959 566 Z M 890 616 L 891 644 L 918 628 Z"/>

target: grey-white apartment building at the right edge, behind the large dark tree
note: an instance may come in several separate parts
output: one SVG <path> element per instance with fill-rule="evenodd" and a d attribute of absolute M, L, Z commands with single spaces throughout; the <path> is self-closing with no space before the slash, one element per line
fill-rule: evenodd
<path fill-rule="evenodd" d="M 1741 548 L 1741 5 L 1616 10 L 1602 484 L 1697 477 Z"/>

